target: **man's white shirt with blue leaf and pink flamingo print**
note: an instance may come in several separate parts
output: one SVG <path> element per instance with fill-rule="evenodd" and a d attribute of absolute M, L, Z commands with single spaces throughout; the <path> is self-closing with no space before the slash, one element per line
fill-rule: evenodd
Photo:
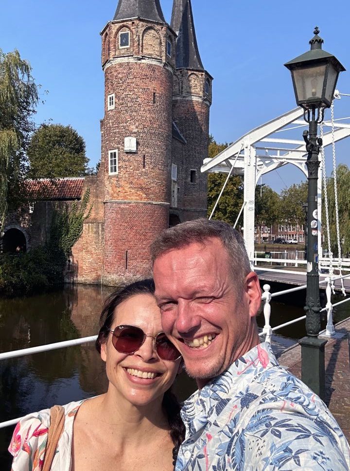
<path fill-rule="evenodd" d="M 184 404 L 176 471 L 348 471 L 350 447 L 326 405 L 281 367 L 269 343 Z"/>

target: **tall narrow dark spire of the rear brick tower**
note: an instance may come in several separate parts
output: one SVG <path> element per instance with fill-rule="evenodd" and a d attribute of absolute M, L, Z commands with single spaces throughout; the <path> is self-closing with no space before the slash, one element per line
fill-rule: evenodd
<path fill-rule="evenodd" d="M 176 68 L 204 70 L 194 31 L 191 0 L 174 0 L 171 27 L 177 34 Z"/>

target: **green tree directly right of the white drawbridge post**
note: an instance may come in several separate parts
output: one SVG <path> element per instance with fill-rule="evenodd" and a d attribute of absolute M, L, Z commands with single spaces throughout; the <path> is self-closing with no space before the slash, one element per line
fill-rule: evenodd
<path fill-rule="evenodd" d="M 255 223 L 271 226 L 281 220 L 280 195 L 268 185 L 255 189 Z"/>

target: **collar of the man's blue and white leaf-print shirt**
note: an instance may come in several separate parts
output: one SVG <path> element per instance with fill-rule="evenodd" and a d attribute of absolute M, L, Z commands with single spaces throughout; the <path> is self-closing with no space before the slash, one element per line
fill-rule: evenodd
<path fill-rule="evenodd" d="M 181 411 L 187 436 L 192 436 L 200 429 L 215 423 L 233 396 L 244 391 L 246 385 L 268 368 L 278 365 L 268 342 L 258 344 L 238 358 L 229 368 L 216 376 L 202 389 L 197 390 L 185 401 Z M 249 400 L 249 398 L 247 398 Z"/>

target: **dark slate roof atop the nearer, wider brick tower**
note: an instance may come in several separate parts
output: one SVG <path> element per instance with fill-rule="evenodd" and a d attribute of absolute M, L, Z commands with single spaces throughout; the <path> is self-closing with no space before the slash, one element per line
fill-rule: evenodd
<path fill-rule="evenodd" d="M 143 18 L 165 23 L 159 0 L 119 0 L 113 20 Z"/>

